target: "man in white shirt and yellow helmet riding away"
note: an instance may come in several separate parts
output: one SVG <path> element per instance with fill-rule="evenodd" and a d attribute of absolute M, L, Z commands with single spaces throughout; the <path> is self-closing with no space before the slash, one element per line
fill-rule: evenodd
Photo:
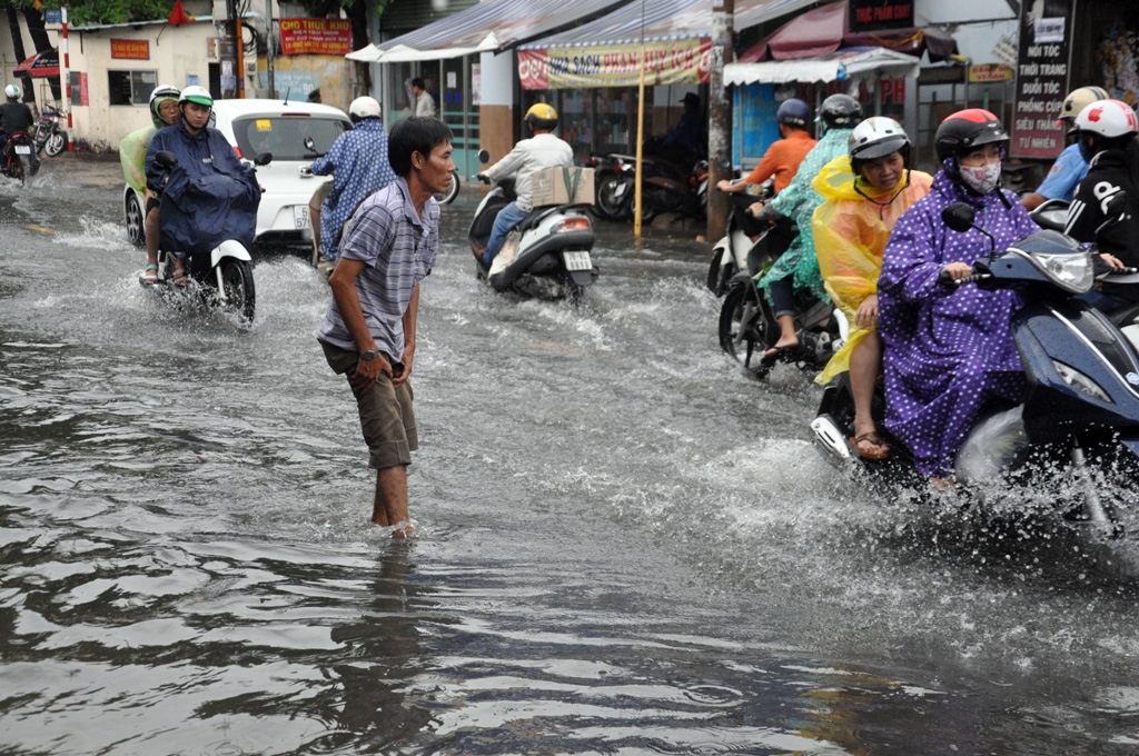
<path fill-rule="evenodd" d="M 486 252 L 482 254 L 482 262 L 487 268 L 502 248 L 506 235 L 534 207 L 532 179 L 534 171 L 573 165 L 573 148 L 552 133 L 558 128 L 557 110 L 544 102 L 539 102 L 526 110 L 526 123 L 530 124 L 530 132 L 533 135 L 523 139 L 506 157 L 478 174 L 491 181 L 514 175 L 514 190 L 518 195 L 518 198 L 500 209 L 498 217 L 494 219 Z M 475 257 L 478 256 L 475 252 Z"/>

